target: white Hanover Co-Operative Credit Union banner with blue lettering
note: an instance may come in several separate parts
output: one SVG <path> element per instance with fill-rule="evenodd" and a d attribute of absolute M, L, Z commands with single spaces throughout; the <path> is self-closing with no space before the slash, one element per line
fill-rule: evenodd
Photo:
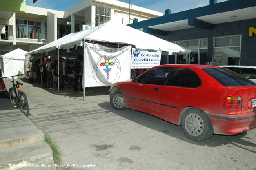
<path fill-rule="evenodd" d="M 161 62 L 160 50 L 132 49 L 131 68 L 151 68 L 159 66 Z"/>

